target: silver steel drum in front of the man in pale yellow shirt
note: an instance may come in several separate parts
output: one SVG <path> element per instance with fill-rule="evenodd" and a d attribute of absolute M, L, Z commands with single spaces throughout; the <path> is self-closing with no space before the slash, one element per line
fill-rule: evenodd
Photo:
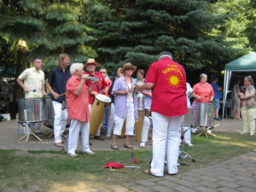
<path fill-rule="evenodd" d="M 23 122 L 41 122 L 48 117 L 46 111 L 46 100 L 44 98 L 22 98 L 18 99 L 20 123 Z"/>

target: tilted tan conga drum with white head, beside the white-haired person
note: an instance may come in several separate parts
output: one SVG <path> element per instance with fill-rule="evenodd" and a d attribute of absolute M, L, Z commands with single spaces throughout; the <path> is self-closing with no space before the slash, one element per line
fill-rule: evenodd
<path fill-rule="evenodd" d="M 98 94 L 95 96 L 90 112 L 90 135 L 96 135 L 104 116 L 104 108 L 108 106 L 111 99 L 108 96 Z"/>

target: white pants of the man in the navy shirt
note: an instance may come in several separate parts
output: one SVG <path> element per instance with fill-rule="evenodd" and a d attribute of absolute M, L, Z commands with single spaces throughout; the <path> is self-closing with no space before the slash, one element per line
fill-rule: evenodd
<path fill-rule="evenodd" d="M 54 131 L 55 131 L 55 143 L 61 143 L 62 133 L 66 129 L 67 125 L 67 109 L 62 110 L 62 105 L 60 102 L 52 101 L 53 108 L 55 110 L 55 123 L 54 123 Z"/>

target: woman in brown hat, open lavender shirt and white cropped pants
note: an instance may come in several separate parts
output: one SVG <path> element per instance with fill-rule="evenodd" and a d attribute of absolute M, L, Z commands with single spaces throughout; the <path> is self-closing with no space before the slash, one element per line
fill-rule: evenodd
<path fill-rule="evenodd" d="M 116 143 L 117 136 L 121 135 L 124 121 L 126 119 L 125 126 L 125 148 L 132 149 L 131 136 L 134 133 L 135 119 L 137 119 L 137 98 L 134 94 L 134 86 L 136 80 L 132 79 L 131 75 L 136 71 L 137 67 L 131 65 L 131 63 L 125 63 L 122 68 L 124 77 L 116 79 L 113 84 L 112 94 L 114 95 L 114 128 L 113 128 L 113 140 L 111 148 L 113 150 L 119 150 Z"/>

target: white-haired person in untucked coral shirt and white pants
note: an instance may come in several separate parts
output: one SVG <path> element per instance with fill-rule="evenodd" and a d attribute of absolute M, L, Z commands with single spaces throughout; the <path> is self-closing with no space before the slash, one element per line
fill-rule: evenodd
<path fill-rule="evenodd" d="M 68 133 L 67 154 L 71 157 L 77 157 L 75 153 L 79 143 L 79 132 L 82 137 L 82 152 L 84 154 L 94 154 L 90 150 L 89 131 L 90 131 L 90 111 L 89 94 L 93 90 L 96 81 L 92 81 L 90 87 L 84 82 L 89 74 L 84 74 L 84 64 L 73 63 L 70 67 L 72 77 L 68 79 L 66 85 L 67 113 L 70 120 Z"/>

